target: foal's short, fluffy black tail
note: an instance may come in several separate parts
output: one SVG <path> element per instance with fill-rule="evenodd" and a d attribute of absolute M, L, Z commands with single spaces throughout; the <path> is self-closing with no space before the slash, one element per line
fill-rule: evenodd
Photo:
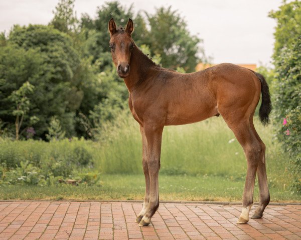
<path fill-rule="evenodd" d="M 268 115 L 272 110 L 272 102 L 269 94 L 269 88 L 263 75 L 254 72 L 261 82 L 261 105 L 259 108 L 259 117 L 263 125 L 267 125 Z"/>

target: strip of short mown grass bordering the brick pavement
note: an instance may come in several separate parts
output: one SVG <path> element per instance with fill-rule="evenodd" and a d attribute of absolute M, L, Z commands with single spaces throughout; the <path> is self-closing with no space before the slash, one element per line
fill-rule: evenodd
<path fill-rule="evenodd" d="M 241 201 L 244 180 L 222 176 L 160 175 L 161 200 Z M 102 186 L 0 186 L 0 199 L 124 199 L 142 200 L 143 174 L 104 174 Z M 301 201 L 289 189 L 270 186 L 271 201 Z M 255 185 L 254 200 L 258 201 Z"/>

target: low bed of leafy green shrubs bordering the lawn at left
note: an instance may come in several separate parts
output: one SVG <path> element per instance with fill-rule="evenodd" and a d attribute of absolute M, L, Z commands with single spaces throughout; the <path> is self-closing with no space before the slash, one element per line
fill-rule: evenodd
<path fill-rule="evenodd" d="M 92 152 L 92 141 L 77 138 L 0 140 L 0 184 L 52 185 L 68 178 L 93 184 L 99 176 L 86 172 L 93 166 Z"/>

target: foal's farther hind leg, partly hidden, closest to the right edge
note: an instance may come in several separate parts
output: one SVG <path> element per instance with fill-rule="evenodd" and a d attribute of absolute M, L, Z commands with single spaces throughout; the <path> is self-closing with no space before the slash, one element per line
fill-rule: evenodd
<path fill-rule="evenodd" d="M 266 177 L 266 169 L 265 169 L 265 144 L 263 143 L 258 133 L 256 132 L 252 119 L 250 119 L 250 125 L 257 140 L 260 142 L 262 146 L 262 154 L 260 156 L 258 167 L 257 167 L 257 177 L 258 177 L 258 184 L 259 184 L 259 205 L 257 206 L 251 218 L 261 218 L 263 211 L 270 200 L 267 177 Z"/>

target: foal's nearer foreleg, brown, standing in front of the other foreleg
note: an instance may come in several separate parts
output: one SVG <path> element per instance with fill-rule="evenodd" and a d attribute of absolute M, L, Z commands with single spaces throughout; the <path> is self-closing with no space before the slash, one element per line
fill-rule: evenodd
<path fill-rule="evenodd" d="M 149 174 L 149 198 L 148 204 L 139 226 L 150 223 L 150 219 L 159 207 L 159 169 L 162 141 L 162 127 L 144 125 L 147 141 L 147 168 Z M 145 178 L 146 179 L 146 178 Z"/>

